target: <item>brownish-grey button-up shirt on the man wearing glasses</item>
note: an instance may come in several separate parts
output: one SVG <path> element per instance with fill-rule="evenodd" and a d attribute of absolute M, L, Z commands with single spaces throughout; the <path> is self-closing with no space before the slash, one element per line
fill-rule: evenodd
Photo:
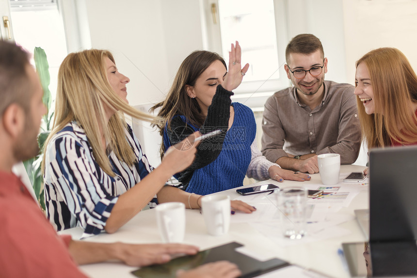
<path fill-rule="evenodd" d="M 321 104 L 302 104 L 296 88 L 274 93 L 265 103 L 262 154 L 275 162 L 289 154 L 340 154 L 342 164 L 355 162 L 361 145 L 354 87 L 324 81 Z"/>

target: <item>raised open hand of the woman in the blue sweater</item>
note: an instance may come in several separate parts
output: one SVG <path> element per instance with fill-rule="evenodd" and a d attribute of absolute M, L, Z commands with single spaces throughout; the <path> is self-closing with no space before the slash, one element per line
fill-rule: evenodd
<path fill-rule="evenodd" d="M 241 67 L 242 50 L 239 42 L 236 41 L 236 46 L 232 44 L 232 51 L 229 52 L 229 68 L 223 82 L 223 88 L 227 91 L 233 91 L 241 84 L 243 76 L 249 69 L 249 64 Z"/>

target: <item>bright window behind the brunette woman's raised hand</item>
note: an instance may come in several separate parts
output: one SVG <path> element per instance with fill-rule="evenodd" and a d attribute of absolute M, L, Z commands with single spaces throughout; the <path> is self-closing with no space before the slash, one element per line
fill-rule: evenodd
<path fill-rule="evenodd" d="M 242 62 L 250 64 L 244 82 L 235 90 L 236 97 L 261 97 L 264 101 L 289 86 L 284 70 L 288 40 L 283 10 L 282 0 L 206 0 L 207 49 L 218 52 L 227 62 L 230 44 L 237 40 L 242 46 Z"/>

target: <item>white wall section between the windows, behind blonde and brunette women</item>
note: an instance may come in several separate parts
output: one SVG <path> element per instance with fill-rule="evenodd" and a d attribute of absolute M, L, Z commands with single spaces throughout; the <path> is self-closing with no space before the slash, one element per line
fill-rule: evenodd
<path fill-rule="evenodd" d="M 131 105 L 161 100 L 182 60 L 202 49 L 199 1 L 87 0 L 91 46 L 112 51 Z"/>

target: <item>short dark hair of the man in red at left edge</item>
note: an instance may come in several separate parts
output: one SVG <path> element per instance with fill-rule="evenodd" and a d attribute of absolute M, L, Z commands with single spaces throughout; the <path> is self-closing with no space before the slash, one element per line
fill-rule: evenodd
<path fill-rule="evenodd" d="M 12 103 L 19 104 L 25 110 L 30 107 L 27 97 L 29 77 L 26 66 L 29 53 L 15 43 L 0 41 L 0 117 Z"/>

